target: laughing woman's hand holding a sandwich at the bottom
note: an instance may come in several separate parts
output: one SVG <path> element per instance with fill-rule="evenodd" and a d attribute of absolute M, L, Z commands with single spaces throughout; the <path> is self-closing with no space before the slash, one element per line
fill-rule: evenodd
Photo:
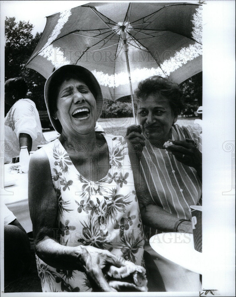
<path fill-rule="evenodd" d="M 126 287 L 146 291 L 146 271 L 143 267 L 92 246 L 80 245 L 74 248 L 74 253 L 95 290 L 117 292 L 119 288 Z M 107 279 L 104 275 L 108 276 Z M 131 277 L 130 282 L 126 281 L 127 277 Z"/>

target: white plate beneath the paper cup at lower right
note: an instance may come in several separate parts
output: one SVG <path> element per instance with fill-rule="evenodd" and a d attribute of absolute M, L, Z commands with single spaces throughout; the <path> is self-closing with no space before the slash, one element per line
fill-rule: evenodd
<path fill-rule="evenodd" d="M 202 274 L 202 253 L 194 249 L 190 233 L 160 233 L 152 236 L 150 246 L 157 254 L 191 271 Z"/>

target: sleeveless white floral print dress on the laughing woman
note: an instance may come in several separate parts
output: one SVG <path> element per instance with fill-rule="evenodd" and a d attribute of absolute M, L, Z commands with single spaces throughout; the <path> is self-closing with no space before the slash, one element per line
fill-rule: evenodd
<path fill-rule="evenodd" d="M 58 197 L 55 237 L 65 246 L 92 245 L 143 265 L 143 227 L 127 145 L 121 136 L 104 137 L 109 171 L 96 182 L 78 172 L 58 139 L 42 148 Z M 53 268 L 37 256 L 36 263 L 43 292 L 92 291 L 85 273 Z"/>

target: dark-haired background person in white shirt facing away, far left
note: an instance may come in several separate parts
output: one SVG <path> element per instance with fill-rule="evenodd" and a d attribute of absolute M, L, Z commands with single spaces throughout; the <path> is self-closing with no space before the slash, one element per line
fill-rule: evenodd
<path fill-rule="evenodd" d="M 19 162 L 20 147 L 28 151 L 37 150 L 37 145 L 47 143 L 35 103 L 26 99 L 27 84 L 22 77 L 10 78 L 5 82 L 5 103 L 12 106 L 5 117 L 4 163 Z M 15 158 L 16 157 L 16 158 Z"/>

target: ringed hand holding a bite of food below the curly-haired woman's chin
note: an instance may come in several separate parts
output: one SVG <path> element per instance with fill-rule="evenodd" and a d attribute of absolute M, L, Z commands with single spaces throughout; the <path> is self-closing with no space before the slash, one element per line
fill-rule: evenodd
<path fill-rule="evenodd" d="M 196 169 L 198 175 L 202 176 L 202 153 L 191 139 L 182 140 L 169 140 L 171 145 L 168 146 L 164 143 L 163 148 L 167 151 L 171 151 L 176 159 L 187 165 Z"/>

